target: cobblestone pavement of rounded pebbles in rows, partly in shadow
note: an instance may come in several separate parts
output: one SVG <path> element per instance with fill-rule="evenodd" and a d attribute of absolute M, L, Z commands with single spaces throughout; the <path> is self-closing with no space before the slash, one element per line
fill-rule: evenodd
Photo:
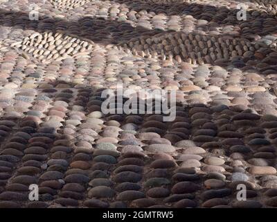
<path fill-rule="evenodd" d="M 276 10 L 0 0 L 0 207 L 276 207 Z M 176 90 L 177 117 L 102 113 L 118 83 Z"/>

